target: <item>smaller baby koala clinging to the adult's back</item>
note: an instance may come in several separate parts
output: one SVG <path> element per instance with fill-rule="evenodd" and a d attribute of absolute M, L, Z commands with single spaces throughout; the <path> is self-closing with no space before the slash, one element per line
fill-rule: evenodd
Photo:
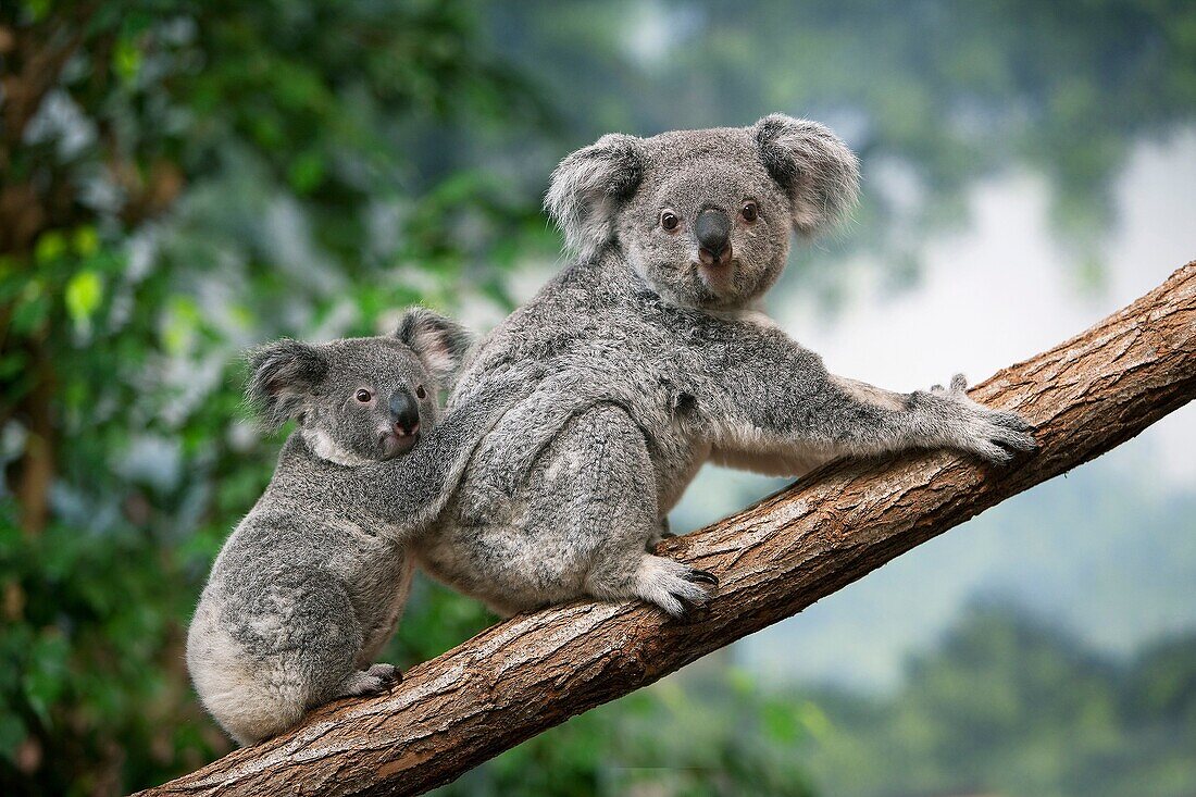
<path fill-rule="evenodd" d="M 220 550 L 187 639 L 200 699 L 239 743 L 401 677 L 373 659 L 407 600 L 404 544 L 519 397 L 464 406 L 434 426 L 438 391 L 470 341 L 456 322 L 414 309 L 392 336 L 281 340 L 251 353 L 250 400 L 269 425 L 299 426 Z"/>

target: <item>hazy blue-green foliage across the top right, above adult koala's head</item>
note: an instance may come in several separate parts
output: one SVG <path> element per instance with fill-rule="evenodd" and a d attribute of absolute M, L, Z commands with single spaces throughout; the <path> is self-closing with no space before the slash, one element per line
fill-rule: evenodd
<path fill-rule="evenodd" d="M 927 227 L 964 217 L 977 178 L 1014 165 L 1051 182 L 1076 262 L 1098 260 L 1129 145 L 1196 108 L 1185 0 L 533 0 L 492 13 L 513 60 L 554 66 L 537 74 L 586 141 L 775 110 L 830 123 L 864 160 L 852 243 L 895 267 Z"/>

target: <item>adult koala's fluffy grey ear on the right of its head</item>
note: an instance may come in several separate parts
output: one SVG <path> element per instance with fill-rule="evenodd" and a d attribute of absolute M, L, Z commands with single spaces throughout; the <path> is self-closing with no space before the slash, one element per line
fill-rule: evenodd
<path fill-rule="evenodd" d="M 859 160 L 818 122 L 771 114 L 752 128 L 761 160 L 789 194 L 793 226 L 822 232 L 847 215 L 860 189 Z"/>

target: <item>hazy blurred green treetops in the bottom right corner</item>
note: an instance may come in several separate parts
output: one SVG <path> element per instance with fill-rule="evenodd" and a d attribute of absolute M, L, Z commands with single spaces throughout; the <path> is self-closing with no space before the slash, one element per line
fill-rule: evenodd
<path fill-rule="evenodd" d="M 1058 629 L 976 607 L 911 662 L 890 699 L 835 692 L 805 762 L 828 793 L 1011 797 L 1191 793 L 1196 638 L 1128 663 Z"/>

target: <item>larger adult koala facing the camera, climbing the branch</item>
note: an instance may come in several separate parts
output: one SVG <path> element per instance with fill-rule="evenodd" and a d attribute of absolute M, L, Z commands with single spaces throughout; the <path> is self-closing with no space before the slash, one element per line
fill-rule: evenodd
<path fill-rule="evenodd" d="M 838 138 L 781 115 L 605 135 L 566 158 L 545 206 L 579 258 L 490 334 L 452 403 L 529 360 L 610 400 L 554 430 L 541 419 L 567 393 L 509 410 L 419 541 L 427 570 L 500 613 L 590 595 L 679 615 L 716 580 L 646 550 L 703 462 L 798 475 L 841 455 L 1031 449 L 1029 426 L 969 400 L 962 377 L 913 394 L 836 377 L 761 311 L 791 229 L 822 231 L 856 185 Z"/>

